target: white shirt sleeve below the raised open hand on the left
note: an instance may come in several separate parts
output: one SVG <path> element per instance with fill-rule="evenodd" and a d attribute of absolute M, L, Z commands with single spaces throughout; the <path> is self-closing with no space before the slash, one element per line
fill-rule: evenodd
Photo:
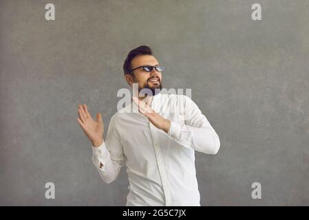
<path fill-rule="evenodd" d="M 107 136 L 98 147 L 92 146 L 92 162 L 101 179 L 109 184 L 114 181 L 124 162 L 123 148 L 114 124 L 114 116 L 109 122 Z"/>

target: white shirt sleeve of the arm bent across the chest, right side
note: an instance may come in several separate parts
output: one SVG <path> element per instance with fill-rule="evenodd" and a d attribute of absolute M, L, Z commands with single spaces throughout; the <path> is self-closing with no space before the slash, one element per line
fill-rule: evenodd
<path fill-rule="evenodd" d="M 184 124 L 171 121 L 168 135 L 186 148 L 206 154 L 216 154 L 220 148 L 220 139 L 215 129 L 202 114 L 198 106 L 188 96 L 182 96 Z"/>

